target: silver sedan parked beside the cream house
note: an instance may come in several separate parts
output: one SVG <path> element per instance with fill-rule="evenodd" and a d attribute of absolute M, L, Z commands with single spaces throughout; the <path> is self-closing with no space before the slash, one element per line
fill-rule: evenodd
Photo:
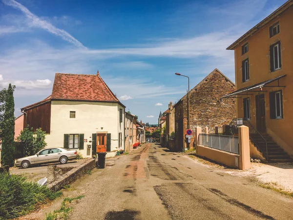
<path fill-rule="evenodd" d="M 60 162 L 61 164 L 65 164 L 68 160 L 75 159 L 76 157 L 76 150 L 68 150 L 65 148 L 46 148 L 39 151 L 35 155 L 18 159 L 15 166 L 28 168 L 30 165 L 42 163 Z"/>

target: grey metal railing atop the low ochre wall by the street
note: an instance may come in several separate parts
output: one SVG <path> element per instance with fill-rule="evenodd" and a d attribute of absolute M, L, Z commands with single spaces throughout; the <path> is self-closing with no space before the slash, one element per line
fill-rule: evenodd
<path fill-rule="evenodd" d="M 237 136 L 216 135 L 200 133 L 198 135 L 199 145 L 239 154 L 239 140 Z"/>

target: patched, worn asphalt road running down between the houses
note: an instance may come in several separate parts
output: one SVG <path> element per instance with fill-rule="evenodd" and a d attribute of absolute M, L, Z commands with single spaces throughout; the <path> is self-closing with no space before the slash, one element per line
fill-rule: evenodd
<path fill-rule="evenodd" d="M 293 199 L 154 143 L 74 184 L 71 220 L 293 219 Z"/>

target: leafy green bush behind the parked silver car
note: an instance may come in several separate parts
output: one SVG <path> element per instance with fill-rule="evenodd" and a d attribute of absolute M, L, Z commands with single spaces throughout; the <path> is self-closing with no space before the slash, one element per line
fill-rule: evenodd
<path fill-rule="evenodd" d="M 21 142 L 24 156 L 37 154 L 47 146 L 45 142 L 45 132 L 43 132 L 41 128 L 36 129 L 36 132 L 34 132 L 33 128 L 30 128 L 29 125 L 21 131 L 17 140 Z"/>

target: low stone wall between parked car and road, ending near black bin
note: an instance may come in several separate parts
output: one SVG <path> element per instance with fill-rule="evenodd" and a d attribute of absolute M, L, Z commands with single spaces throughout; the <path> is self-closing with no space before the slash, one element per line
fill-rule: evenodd
<path fill-rule="evenodd" d="M 57 167 L 56 165 L 48 166 L 48 188 L 53 191 L 62 189 L 75 181 L 78 177 L 83 176 L 88 170 L 96 167 L 96 160 L 88 159 L 85 163 L 70 169 L 70 167 Z M 66 170 L 68 172 L 66 172 Z"/>

